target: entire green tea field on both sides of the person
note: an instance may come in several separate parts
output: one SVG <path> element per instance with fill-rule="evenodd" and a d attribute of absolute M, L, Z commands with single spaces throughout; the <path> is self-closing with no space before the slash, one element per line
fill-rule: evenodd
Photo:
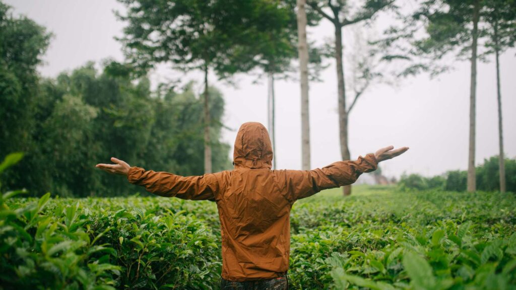
<path fill-rule="evenodd" d="M 0 200 L 0 289 L 216 289 L 216 204 Z M 295 289 L 514 289 L 516 197 L 354 187 L 297 201 Z"/>

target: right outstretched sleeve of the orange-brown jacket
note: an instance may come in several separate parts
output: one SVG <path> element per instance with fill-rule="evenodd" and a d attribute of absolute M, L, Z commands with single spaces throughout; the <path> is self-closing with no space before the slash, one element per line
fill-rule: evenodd
<path fill-rule="evenodd" d="M 374 171 L 377 167 L 375 154 L 370 153 L 365 157 L 360 156 L 356 161 L 339 161 L 320 169 L 285 170 L 287 198 L 295 202 L 323 189 L 352 184 L 360 174 Z"/>

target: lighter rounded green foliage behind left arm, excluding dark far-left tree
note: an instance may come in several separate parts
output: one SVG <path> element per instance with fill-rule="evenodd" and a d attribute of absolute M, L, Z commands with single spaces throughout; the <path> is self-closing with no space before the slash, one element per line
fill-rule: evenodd
<path fill-rule="evenodd" d="M 41 80 L 31 116 L 34 122 L 26 132 L 32 144 L 26 165 L 35 168 L 17 166 L 4 179 L 7 187 L 28 185 L 35 195 L 46 191 L 76 197 L 120 195 L 130 185 L 95 169 L 97 163 L 109 163 L 111 156 L 153 170 L 203 173 L 203 155 L 197 153 L 203 148 L 202 102 L 193 84 L 181 93 L 170 90 L 153 96 L 146 79 L 134 85 L 112 75 L 112 66 L 99 74 L 89 63 L 57 79 Z M 221 94 L 212 89 L 216 170 L 230 166 L 229 146 L 219 141 L 223 106 Z M 2 148 L 0 153 L 7 152 Z M 31 182 L 24 183 L 27 179 Z"/>

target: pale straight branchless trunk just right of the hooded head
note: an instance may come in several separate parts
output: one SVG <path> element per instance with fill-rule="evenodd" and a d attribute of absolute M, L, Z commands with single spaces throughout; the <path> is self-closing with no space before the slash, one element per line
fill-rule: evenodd
<path fill-rule="evenodd" d="M 298 52 L 301 73 L 301 161 L 302 169 L 310 170 L 310 117 L 308 106 L 308 44 L 306 0 L 297 0 Z"/>

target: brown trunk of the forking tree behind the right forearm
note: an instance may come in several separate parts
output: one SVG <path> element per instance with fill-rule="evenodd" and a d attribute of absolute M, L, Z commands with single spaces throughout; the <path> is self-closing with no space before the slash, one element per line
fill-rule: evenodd
<path fill-rule="evenodd" d="M 337 66 L 337 88 L 338 88 L 338 126 L 341 142 L 342 160 L 349 160 L 348 148 L 348 112 L 346 109 L 346 89 L 344 83 L 344 64 L 342 62 L 342 28 L 341 24 L 335 23 L 335 60 Z M 351 185 L 344 186 L 343 194 L 351 195 Z"/>

